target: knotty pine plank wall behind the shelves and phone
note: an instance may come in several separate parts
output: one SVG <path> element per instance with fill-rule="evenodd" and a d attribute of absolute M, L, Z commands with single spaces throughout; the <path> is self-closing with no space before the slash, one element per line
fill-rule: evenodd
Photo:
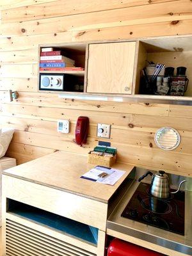
<path fill-rule="evenodd" d="M 112 124 L 118 161 L 188 175 L 192 159 L 192 106 L 59 99 L 37 92 L 38 44 L 192 34 L 190 0 L 1 0 L 1 124 L 15 127 L 7 156 L 25 163 L 55 150 L 86 154 L 97 144 L 97 123 Z M 6 90 L 19 99 L 8 102 Z M 90 118 L 88 143 L 74 143 L 77 117 Z M 58 134 L 58 119 L 71 122 Z M 164 152 L 154 143 L 159 127 L 181 134 L 180 146 Z"/>

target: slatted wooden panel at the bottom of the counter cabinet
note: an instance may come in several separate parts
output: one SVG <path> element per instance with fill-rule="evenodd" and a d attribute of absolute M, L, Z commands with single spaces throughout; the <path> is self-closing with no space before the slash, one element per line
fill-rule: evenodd
<path fill-rule="evenodd" d="M 12 214 L 6 216 L 6 255 L 10 256 L 96 256 L 97 246 Z"/>

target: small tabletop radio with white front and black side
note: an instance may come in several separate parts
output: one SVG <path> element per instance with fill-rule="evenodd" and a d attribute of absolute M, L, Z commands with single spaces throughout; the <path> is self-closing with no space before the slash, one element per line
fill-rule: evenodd
<path fill-rule="evenodd" d="M 40 74 L 39 90 L 73 92 L 76 76 L 69 74 Z"/>

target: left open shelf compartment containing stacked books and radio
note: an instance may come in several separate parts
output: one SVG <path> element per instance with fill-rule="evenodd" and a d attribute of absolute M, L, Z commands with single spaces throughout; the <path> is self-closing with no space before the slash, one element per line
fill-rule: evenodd
<path fill-rule="evenodd" d="M 39 90 L 85 92 L 87 44 L 40 45 Z"/>

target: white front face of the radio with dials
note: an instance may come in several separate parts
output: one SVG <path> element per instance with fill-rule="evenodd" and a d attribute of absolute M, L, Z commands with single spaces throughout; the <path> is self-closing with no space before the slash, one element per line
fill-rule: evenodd
<path fill-rule="evenodd" d="M 63 75 L 41 74 L 40 90 L 63 90 Z"/>

